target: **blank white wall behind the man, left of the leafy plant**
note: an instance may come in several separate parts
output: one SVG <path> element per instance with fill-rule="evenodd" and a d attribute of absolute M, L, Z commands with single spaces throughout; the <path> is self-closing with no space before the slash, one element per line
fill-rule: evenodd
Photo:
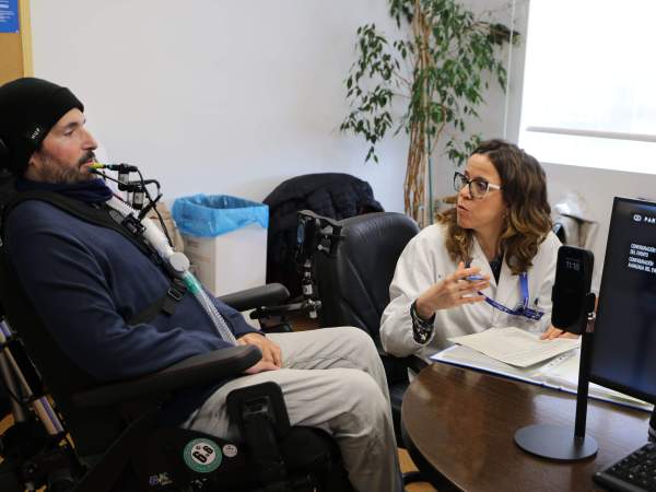
<path fill-rule="evenodd" d="M 36 77 L 68 85 L 115 162 L 195 192 L 261 200 L 289 177 L 343 172 L 402 211 L 405 136 L 380 164 L 339 132 L 355 30 L 382 0 L 33 0 Z"/>

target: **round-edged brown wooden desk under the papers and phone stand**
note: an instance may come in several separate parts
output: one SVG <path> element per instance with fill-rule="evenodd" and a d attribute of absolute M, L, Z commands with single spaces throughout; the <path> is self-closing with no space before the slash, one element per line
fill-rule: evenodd
<path fill-rule="evenodd" d="M 441 492 L 588 491 L 591 476 L 647 441 L 649 414 L 589 400 L 587 433 L 596 457 L 560 464 L 526 454 L 515 431 L 534 423 L 572 426 L 573 395 L 435 363 L 408 388 L 403 440 L 410 456 Z"/>

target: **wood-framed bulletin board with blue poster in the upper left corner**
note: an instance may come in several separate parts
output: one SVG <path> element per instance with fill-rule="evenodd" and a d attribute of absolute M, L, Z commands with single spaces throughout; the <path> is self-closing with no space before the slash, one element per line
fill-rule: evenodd
<path fill-rule="evenodd" d="M 0 84 L 32 74 L 30 0 L 0 0 Z"/>

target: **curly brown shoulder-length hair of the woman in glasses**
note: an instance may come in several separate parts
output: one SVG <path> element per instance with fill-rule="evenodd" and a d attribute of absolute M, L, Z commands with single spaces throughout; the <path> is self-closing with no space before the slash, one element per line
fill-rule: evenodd
<path fill-rule="evenodd" d="M 540 163 L 517 145 L 501 139 L 481 142 L 473 154 L 487 155 L 499 176 L 508 209 L 499 237 L 499 250 L 514 274 L 532 266 L 532 258 L 551 231 L 547 176 Z M 447 224 L 446 249 L 454 261 L 471 260 L 473 232 L 458 225 L 456 209 L 437 218 Z"/>

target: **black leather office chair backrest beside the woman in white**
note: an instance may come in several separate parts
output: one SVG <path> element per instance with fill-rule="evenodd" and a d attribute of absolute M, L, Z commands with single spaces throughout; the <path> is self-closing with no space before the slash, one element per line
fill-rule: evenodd
<path fill-rule="evenodd" d="M 320 323 L 355 326 L 377 342 L 397 260 L 419 226 L 395 212 L 367 213 L 340 224 L 344 238 L 337 256 L 315 256 Z"/>

